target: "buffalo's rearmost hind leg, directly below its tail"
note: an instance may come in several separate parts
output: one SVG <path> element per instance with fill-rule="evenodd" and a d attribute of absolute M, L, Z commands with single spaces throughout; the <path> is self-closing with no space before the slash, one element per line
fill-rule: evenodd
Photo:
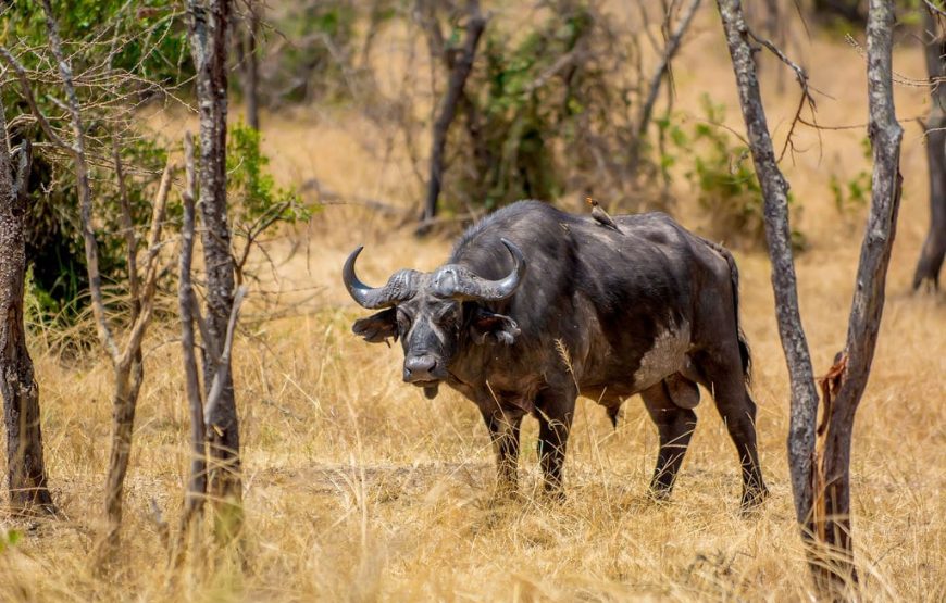
<path fill-rule="evenodd" d="M 721 362 L 721 357 L 727 362 Z M 697 364 L 706 376 L 705 385 L 712 392 L 717 410 L 739 454 L 743 476 L 740 506 L 748 511 L 769 495 L 769 489 L 762 479 L 756 444 L 756 402 L 746 386 L 738 351 L 719 355 L 706 352 L 700 354 Z"/>

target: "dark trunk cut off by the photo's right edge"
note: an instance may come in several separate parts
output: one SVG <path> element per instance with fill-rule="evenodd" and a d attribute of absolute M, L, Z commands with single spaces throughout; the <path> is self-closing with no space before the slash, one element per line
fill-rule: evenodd
<path fill-rule="evenodd" d="M 939 271 L 946 255 L 946 35 L 939 26 L 942 14 L 922 7 L 926 42 L 926 71 L 930 74 L 931 104 L 926 117 L 926 159 L 930 166 L 930 231 L 923 242 L 913 273 L 913 290 L 923 282 L 939 288 Z"/>

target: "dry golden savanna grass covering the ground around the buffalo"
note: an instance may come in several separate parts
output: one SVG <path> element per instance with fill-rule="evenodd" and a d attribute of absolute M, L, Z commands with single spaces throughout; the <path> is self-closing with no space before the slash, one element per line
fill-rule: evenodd
<path fill-rule="evenodd" d="M 698 115 L 702 91 L 729 106 L 742 130 L 732 73 L 713 10 L 699 18 L 675 63 L 677 104 Z M 387 40 L 397 52 L 403 40 Z M 398 45 L 401 45 L 400 47 Z M 923 77 L 922 58 L 904 40 L 895 68 Z M 809 65 L 825 125 L 862 125 L 866 81 L 855 48 L 826 35 L 793 52 Z M 775 64 L 763 65 L 770 124 L 782 140 L 797 103 Z M 396 71 L 396 70 L 395 70 Z M 391 77 L 397 77 L 396 73 Z M 946 599 L 946 304 L 908 292 L 928 219 L 925 150 L 912 118 L 926 110 L 922 88 L 897 87 L 906 127 L 905 193 L 891 265 L 887 306 L 852 454 L 857 562 L 869 600 Z M 179 115 L 153 115 L 165 133 Z M 183 122 L 187 122 L 184 120 Z M 411 206 L 420 185 L 397 149 L 373 126 L 340 110 L 264 115 L 277 176 L 318 178 L 341 197 Z M 818 372 L 842 346 L 854 287 L 863 211 L 842 215 L 827 181 L 869 168 L 864 128 L 800 131 L 799 153 L 783 162 L 804 205 L 811 249 L 798 259 L 801 311 Z M 675 213 L 699 229 L 704 216 L 677 184 Z M 607 191 L 598 192 L 607 199 Z M 561 202 L 573 206 L 573 201 Z M 261 284 L 235 351 L 242 418 L 246 567 L 189 564 L 169 580 L 152 501 L 176 525 L 187 464 L 187 413 L 173 321 L 149 336 L 123 531 L 114 575 L 97 577 L 89 550 L 100 527 L 108 458 L 111 372 L 102 356 L 66 361 L 60 334 L 32 340 L 41 388 L 50 481 L 69 519 L 24 525 L 0 551 L 0 600 L 775 600 L 811 596 L 791 502 L 785 437 L 787 376 L 773 315 L 769 263 L 740 251 L 743 322 L 755 354 L 761 461 L 771 499 L 750 518 L 738 513 L 736 455 L 712 402 L 699 425 L 671 502 L 645 495 L 656 430 L 639 400 L 617 430 L 593 401 L 578 403 L 567 463 L 569 497 L 548 505 L 538 483 L 536 424 L 523 431 L 521 502 L 491 502 L 493 455 L 475 407 L 441 389 L 428 401 L 400 382 L 397 348 L 350 334 L 364 313 L 340 284 L 346 254 L 368 246 L 362 277 L 431 269 L 449 240 L 419 241 L 388 216 L 328 205 L 308 228 L 267 243 Z M 290 251 L 295 254 L 290 255 Z M 166 300 L 173 304 L 173 299 Z M 172 305 L 173 307 L 173 305 Z M 174 586 L 169 587 L 169 583 Z"/>

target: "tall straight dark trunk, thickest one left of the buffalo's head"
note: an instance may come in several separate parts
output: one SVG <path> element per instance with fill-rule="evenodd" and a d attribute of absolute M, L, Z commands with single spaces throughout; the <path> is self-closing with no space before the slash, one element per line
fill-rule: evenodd
<path fill-rule="evenodd" d="M 188 0 L 190 52 L 197 66 L 200 108 L 200 217 L 207 269 L 208 330 L 211 340 L 223 342 L 233 309 L 234 262 L 226 202 L 226 32 L 229 0 Z M 204 342 L 211 344 L 210 341 Z M 220 357 L 214 350 L 211 357 Z M 217 511 L 217 535 L 228 539 L 241 525 L 239 424 L 229 366 L 208 362 L 204 353 L 204 391 L 217 370 L 225 370 L 223 393 L 208 420 L 210 444 L 209 493 Z"/>

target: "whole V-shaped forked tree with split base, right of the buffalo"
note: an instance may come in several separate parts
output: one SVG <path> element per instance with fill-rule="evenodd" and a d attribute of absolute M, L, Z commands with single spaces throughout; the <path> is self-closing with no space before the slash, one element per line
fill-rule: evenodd
<path fill-rule="evenodd" d="M 788 460 L 796 518 L 808 544 L 816 585 L 831 598 L 846 596 L 857 581 L 850 538 L 850 437 L 854 416 L 870 373 L 884 305 L 884 285 L 900 200 L 899 145 L 892 86 L 893 4 L 871 0 L 868 17 L 869 135 L 873 147 L 871 213 L 861 248 L 847 341 L 822 380 L 824 409 L 816 427 L 818 392 L 798 313 L 794 261 L 788 238 L 788 185 L 779 169 L 762 109 L 750 39 L 756 38 L 743 16 L 739 0 L 718 0 L 726 42 L 736 75 L 739 104 L 748 130 L 756 174 L 762 188 L 765 236 L 772 260 L 772 284 L 779 332 L 788 364 L 792 417 Z M 799 81 L 804 71 L 794 63 Z M 816 431 L 818 434 L 816 453 Z"/>

